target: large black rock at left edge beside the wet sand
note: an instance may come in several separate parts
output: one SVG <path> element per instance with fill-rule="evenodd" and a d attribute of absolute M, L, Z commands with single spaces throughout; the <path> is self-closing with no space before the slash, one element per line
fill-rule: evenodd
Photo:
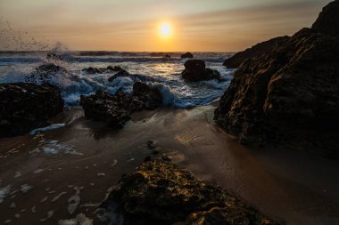
<path fill-rule="evenodd" d="M 61 91 L 52 84 L 0 84 L 0 138 L 49 125 L 62 110 Z"/>

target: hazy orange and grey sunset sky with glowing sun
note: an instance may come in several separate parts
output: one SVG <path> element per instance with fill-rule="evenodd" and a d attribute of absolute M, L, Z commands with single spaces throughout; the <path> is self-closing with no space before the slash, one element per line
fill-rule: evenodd
<path fill-rule="evenodd" d="M 74 51 L 238 52 L 310 27 L 329 2 L 0 0 L 0 50 L 25 50 L 20 38 Z"/>

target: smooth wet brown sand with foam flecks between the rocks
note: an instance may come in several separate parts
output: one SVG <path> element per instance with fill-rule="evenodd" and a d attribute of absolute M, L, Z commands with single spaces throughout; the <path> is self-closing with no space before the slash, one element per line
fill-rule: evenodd
<path fill-rule="evenodd" d="M 95 219 L 97 204 L 121 175 L 152 156 L 147 142 L 154 141 L 160 154 L 153 157 L 165 154 L 277 221 L 339 224 L 338 161 L 289 149 L 248 149 L 214 125 L 213 110 L 161 108 L 138 113 L 122 130 L 112 131 L 73 108 L 55 118 L 66 127 L 1 139 L 0 189 L 11 185 L 11 193 L 0 204 L 0 223 L 57 224 L 79 213 Z M 24 184 L 33 188 L 23 193 Z M 70 215 L 68 199 L 76 189 L 80 204 Z"/>

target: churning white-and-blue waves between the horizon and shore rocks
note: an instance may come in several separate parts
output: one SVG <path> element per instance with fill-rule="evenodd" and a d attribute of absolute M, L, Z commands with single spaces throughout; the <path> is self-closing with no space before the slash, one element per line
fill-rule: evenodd
<path fill-rule="evenodd" d="M 98 56 L 93 58 L 89 57 L 90 62 L 74 62 L 72 60 L 58 60 L 58 59 L 46 59 L 43 55 L 39 56 L 39 62 L 31 63 L 31 61 L 23 63 L 22 61 L 12 61 L 10 65 L 0 64 L 0 83 L 12 83 L 12 82 L 24 82 L 28 76 L 36 71 L 38 66 L 43 64 L 54 63 L 60 66 L 60 71 L 56 71 L 53 76 L 45 77 L 45 82 L 55 84 L 62 89 L 62 98 L 65 100 L 66 106 L 73 107 L 79 105 L 80 95 L 88 95 L 95 91 L 106 91 L 115 93 L 120 88 L 125 92 L 132 92 L 133 84 L 136 81 L 145 82 L 151 87 L 158 89 L 163 96 L 163 105 L 173 106 L 176 108 L 193 108 L 196 106 L 208 105 L 222 95 L 226 91 L 227 86 L 231 80 L 230 69 L 221 66 L 221 63 L 214 62 L 216 59 L 215 54 L 209 55 L 208 53 L 202 54 L 202 58 L 207 58 L 207 66 L 213 69 L 219 70 L 220 75 L 223 78 L 222 82 L 215 80 L 186 83 L 182 80 L 180 74 L 184 69 L 183 64 L 185 60 L 181 59 L 170 59 L 163 61 L 161 59 L 153 57 L 155 59 L 148 60 L 150 57 L 147 56 L 145 61 L 140 62 L 139 60 L 130 60 L 130 55 L 127 53 L 114 53 L 115 55 L 128 55 L 128 58 L 121 57 L 116 59 L 120 61 L 117 63 L 107 63 L 106 60 L 96 60 Z M 136 59 L 140 59 L 143 53 L 138 54 Z M 150 54 L 150 53 L 147 53 Z M 37 53 L 24 53 L 25 58 L 33 59 L 37 57 Z M 80 55 L 80 54 L 79 54 Z M 99 56 L 101 57 L 106 57 Z M 110 57 L 112 54 L 110 54 Z M 217 56 L 219 56 L 217 54 Z M 0 59 L 4 63 L 4 58 L 18 58 L 18 54 L 10 55 L 1 54 Z M 22 57 L 22 55 L 21 55 Z M 88 56 L 86 56 L 88 57 Z M 210 57 L 210 58 L 209 58 Z M 20 57 L 19 57 L 20 58 Z M 62 55 L 65 59 L 65 56 Z M 67 57 L 66 57 L 67 58 Z M 152 58 L 152 57 L 151 57 Z M 218 58 L 218 57 L 217 57 Z M 9 60 L 8 60 L 9 61 Z M 128 76 L 119 76 L 109 81 L 109 78 L 114 76 L 116 72 L 108 71 L 103 74 L 87 74 L 82 71 L 83 68 L 94 67 L 94 68 L 106 68 L 108 66 L 120 66 L 128 70 Z M 25 79 L 26 78 L 26 79 Z M 42 81 L 39 79 L 30 80 L 40 84 Z"/>

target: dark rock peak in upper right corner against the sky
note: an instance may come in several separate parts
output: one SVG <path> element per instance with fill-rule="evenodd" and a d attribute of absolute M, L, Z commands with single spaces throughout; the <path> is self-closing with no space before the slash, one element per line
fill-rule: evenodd
<path fill-rule="evenodd" d="M 313 29 L 330 36 L 339 35 L 339 1 L 327 4 L 314 22 Z"/>

